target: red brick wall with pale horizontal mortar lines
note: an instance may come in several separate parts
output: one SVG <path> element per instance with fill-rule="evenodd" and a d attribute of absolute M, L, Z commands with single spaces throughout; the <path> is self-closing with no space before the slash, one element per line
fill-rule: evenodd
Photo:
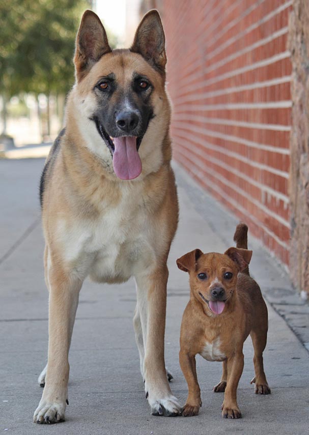
<path fill-rule="evenodd" d="M 161 0 L 174 158 L 289 263 L 287 0 Z"/>

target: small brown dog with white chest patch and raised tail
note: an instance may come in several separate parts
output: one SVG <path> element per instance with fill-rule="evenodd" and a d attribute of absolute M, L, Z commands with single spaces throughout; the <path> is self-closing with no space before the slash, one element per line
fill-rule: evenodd
<path fill-rule="evenodd" d="M 189 272 L 190 301 L 184 311 L 179 360 L 188 384 L 183 416 L 199 414 L 201 390 L 195 368 L 195 355 L 208 361 L 223 361 L 215 392 L 223 392 L 222 417 L 240 418 L 236 391 L 243 370 L 243 343 L 250 334 L 254 345 L 256 394 L 269 394 L 263 368 L 266 346 L 267 307 L 259 285 L 249 275 L 252 251 L 247 250 L 247 225 L 235 231 L 236 248 L 224 254 L 204 254 L 200 249 L 177 260 L 179 269 Z"/>

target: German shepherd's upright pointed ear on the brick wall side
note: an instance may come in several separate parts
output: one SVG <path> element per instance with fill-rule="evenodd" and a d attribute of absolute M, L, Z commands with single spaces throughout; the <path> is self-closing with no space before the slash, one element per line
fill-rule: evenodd
<path fill-rule="evenodd" d="M 160 73 L 165 72 L 165 36 L 159 12 L 147 12 L 137 27 L 130 51 L 142 54 L 144 59 Z"/>

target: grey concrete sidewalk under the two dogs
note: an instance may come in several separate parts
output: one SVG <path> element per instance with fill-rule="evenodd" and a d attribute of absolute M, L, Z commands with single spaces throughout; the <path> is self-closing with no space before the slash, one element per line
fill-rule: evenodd
<path fill-rule="evenodd" d="M 297 333 L 299 326 L 307 331 L 307 305 L 302 305 L 291 290 L 286 273 L 250 234 L 249 247 L 254 250 L 250 271 L 268 300 L 269 335 L 264 361 L 271 395 L 257 396 L 250 385 L 254 375 L 253 352 L 247 340 L 245 367 L 238 389 L 242 419 L 221 418 L 222 394 L 212 392 L 220 379 L 221 364 L 200 357 L 197 358 L 203 400 L 200 415 L 151 416 L 132 326 L 133 280 L 113 286 L 87 280 L 80 294 L 70 351 L 70 405 L 66 422 L 51 426 L 32 423 L 42 393 L 37 376 L 47 356 L 47 290 L 38 201 L 43 163 L 42 159 L 0 161 L 0 432 L 22 435 L 305 433 L 309 422 L 309 354 L 279 312 L 285 304 L 298 307 L 301 321 L 297 317 L 294 330 Z M 169 261 L 165 354 L 167 367 L 174 375 L 172 390 L 184 403 L 187 386 L 179 367 L 178 352 L 181 316 L 189 289 L 188 277 L 177 269 L 175 259 L 196 247 L 205 252 L 226 250 L 233 245 L 237 220 L 201 191 L 179 167 L 176 176 L 181 212 Z M 298 335 L 305 343 L 306 333 Z"/>

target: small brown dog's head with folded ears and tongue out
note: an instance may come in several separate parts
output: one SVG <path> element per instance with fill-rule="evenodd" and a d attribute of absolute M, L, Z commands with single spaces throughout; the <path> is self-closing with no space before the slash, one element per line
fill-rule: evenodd
<path fill-rule="evenodd" d="M 176 260 L 179 269 L 190 275 L 191 294 L 207 307 L 210 315 L 221 314 L 232 300 L 238 272 L 250 263 L 252 251 L 229 248 L 224 254 L 204 254 L 200 249 Z"/>

